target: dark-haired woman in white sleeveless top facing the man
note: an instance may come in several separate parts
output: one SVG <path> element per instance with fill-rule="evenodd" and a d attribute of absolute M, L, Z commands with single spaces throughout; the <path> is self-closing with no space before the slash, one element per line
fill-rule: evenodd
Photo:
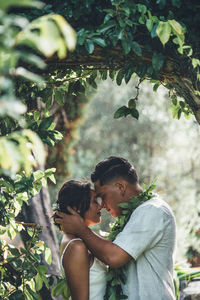
<path fill-rule="evenodd" d="M 57 210 L 69 214 L 67 206 L 76 210 L 87 226 L 100 222 L 101 206 L 89 182 L 70 180 L 63 184 L 58 193 Z M 55 214 L 54 219 L 56 217 Z M 106 266 L 92 256 L 84 242 L 72 234 L 64 234 L 60 257 L 61 270 L 66 276 L 71 299 L 103 300 Z"/>

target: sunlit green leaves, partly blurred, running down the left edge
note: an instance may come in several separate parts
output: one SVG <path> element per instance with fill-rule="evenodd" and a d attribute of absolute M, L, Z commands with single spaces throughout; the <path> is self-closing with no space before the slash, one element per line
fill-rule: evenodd
<path fill-rule="evenodd" d="M 48 110 L 30 110 L 23 86 L 42 89 L 46 67 L 42 56 L 57 53 L 64 58 L 73 50 L 76 34 L 62 16 L 45 15 L 33 22 L 12 12 L 13 7 L 41 8 L 38 1 L 0 1 L 0 271 L 1 299 L 40 299 L 43 284 L 53 284 L 42 255 L 51 264 L 51 250 L 39 240 L 40 226 L 18 223 L 23 203 L 39 193 L 47 179 L 55 183 L 55 168 L 44 171 L 44 144 L 62 139 Z M 32 66 L 32 67 L 30 67 Z M 30 71 L 31 70 L 31 71 Z M 37 71 L 37 72 L 36 72 Z M 23 97 L 24 96 L 24 97 Z M 25 231 L 28 240 L 20 248 L 6 242 Z"/>

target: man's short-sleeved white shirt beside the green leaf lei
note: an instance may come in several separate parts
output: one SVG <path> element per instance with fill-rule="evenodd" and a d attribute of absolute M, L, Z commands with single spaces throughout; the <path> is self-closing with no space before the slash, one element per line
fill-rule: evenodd
<path fill-rule="evenodd" d="M 114 243 L 133 257 L 125 265 L 128 300 L 175 300 L 175 218 L 158 196 L 140 205 Z"/>

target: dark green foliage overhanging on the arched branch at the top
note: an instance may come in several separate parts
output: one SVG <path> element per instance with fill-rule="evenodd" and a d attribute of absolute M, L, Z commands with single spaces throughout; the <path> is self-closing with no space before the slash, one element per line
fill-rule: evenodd
<path fill-rule="evenodd" d="M 63 84 L 73 78 L 79 81 L 79 90 L 84 89 L 85 81 L 95 86 L 98 70 L 102 79 L 109 75 L 120 85 L 136 73 L 141 80 L 151 80 L 155 90 L 160 84 L 170 90 L 175 117 L 192 112 L 200 122 L 197 1 L 46 3 L 45 9 L 62 14 L 78 35 L 76 52 L 67 60 L 47 60 L 48 71 L 60 70 L 62 75 L 57 72 L 57 76 Z M 65 79 L 63 70 L 68 74 Z"/>

